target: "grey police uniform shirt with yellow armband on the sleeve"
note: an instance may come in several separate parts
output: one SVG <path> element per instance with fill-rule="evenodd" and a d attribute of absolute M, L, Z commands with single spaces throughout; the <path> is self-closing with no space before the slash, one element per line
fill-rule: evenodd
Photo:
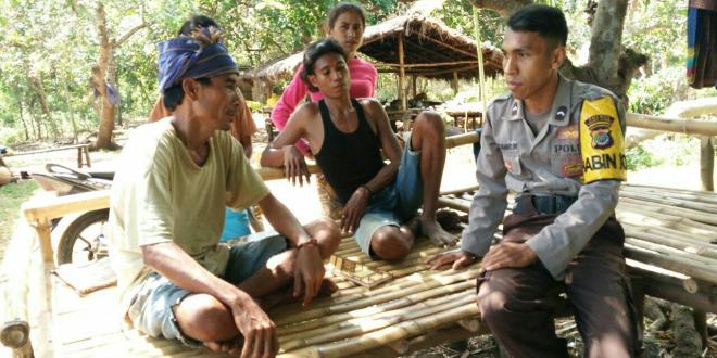
<path fill-rule="evenodd" d="M 558 74 L 548 124 L 531 131 L 523 101 L 510 93 L 488 106 L 474 196 L 461 246 L 483 256 L 502 221 L 508 190 L 577 201 L 527 245 L 559 280 L 570 260 L 614 213 L 627 164 L 625 112 L 603 88 Z"/>

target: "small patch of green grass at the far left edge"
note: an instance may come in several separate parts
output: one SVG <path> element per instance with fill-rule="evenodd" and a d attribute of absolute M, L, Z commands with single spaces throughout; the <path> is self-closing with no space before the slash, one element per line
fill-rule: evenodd
<path fill-rule="evenodd" d="M 35 180 L 22 180 L 0 187 L 0 246 L 12 236 L 15 220 L 20 215 L 20 205 L 33 196 L 37 189 Z"/>

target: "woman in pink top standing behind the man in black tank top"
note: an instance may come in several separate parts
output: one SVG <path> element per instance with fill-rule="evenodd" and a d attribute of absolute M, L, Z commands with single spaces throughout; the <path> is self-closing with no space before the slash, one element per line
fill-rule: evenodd
<path fill-rule="evenodd" d="M 374 97 L 376 89 L 376 76 L 378 72 L 370 63 L 356 56 L 356 51 L 363 43 L 364 29 L 366 29 L 366 16 L 363 9 L 353 3 L 339 3 L 329 12 L 326 20 L 327 35 L 339 42 L 349 54 L 349 75 L 351 76 L 351 98 Z M 286 126 L 291 113 L 306 94 L 316 102 L 324 98 L 320 92 L 310 92 L 306 85 L 301 80 L 303 65 L 299 66 L 297 74 L 284 94 L 272 111 L 272 122 L 279 130 Z M 302 154 L 309 153 L 309 145 L 304 141 L 297 143 Z"/>

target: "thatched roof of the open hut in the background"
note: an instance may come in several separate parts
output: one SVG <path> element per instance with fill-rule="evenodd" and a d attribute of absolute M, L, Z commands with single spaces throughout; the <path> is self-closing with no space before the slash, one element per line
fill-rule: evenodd
<path fill-rule="evenodd" d="M 452 79 L 478 76 L 476 42 L 443 23 L 425 16 L 399 16 L 366 27 L 364 44 L 358 51 L 376 60 L 380 71 L 399 71 L 399 37 L 403 35 L 404 64 L 407 75 Z M 482 46 L 486 75 L 502 72 L 503 53 L 490 44 Z M 244 71 L 246 80 L 273 82 L 293 76 L 303 51 L 274 60 L 254 69 Z"/>

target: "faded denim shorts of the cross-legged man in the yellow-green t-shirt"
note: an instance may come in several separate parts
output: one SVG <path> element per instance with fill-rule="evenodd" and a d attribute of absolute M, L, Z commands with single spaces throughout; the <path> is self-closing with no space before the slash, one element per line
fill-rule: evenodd
<path fill-rule="evenodd" d="M 238 284 L 264 267 L 274 255 L 287 250 L 284 236 L 273 231 L 255 233 L 248 242 L 231 246 L 224 280 Z M 181 343 L 200 347 L 202 342 L 186 336 L 179 330 L 172 309 L 190 294 L 174 285 L 165 277 L 153 272 L 138 289 L 127 315 L 136 329 L 153 337 L 179 340 Z"/>

